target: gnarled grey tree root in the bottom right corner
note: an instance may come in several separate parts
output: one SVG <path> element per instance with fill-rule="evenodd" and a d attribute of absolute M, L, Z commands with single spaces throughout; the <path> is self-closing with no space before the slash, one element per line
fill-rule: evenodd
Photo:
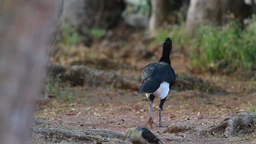
<path fill-rule="evenodd" d="M 238 129 L 250 128 L 256 124 L 256 113 L 248 114 L 241 112 L 236 117 L 226 118 L 218 126 L 202 130 L 199 135 L 205 136 L 212 133 L 224 132 L 226 138 L 234 134 Z"/>

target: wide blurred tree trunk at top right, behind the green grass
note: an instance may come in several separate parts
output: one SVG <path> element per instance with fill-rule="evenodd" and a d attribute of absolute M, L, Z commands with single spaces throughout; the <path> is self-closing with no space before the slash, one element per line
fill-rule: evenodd
<path fill-rule="evenodd" d="M 226 16 L 242 20 L 248 16 L 248 6 L 244 0 L 190 0 L 186 29 L 196 32 L 198 26 L 204 22 L 223 24 Z"/>

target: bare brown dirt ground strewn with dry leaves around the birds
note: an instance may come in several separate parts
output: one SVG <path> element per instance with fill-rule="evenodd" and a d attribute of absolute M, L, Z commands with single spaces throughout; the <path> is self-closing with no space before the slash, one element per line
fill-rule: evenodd
<path fill-rule="evenodd" d="M 93 48 L 90 50 L 86 48 L 73 49 L 75 49 L 74 51 L 82 50 L 82 52 L 86 52 L 86 54 L 92 54 L 90 52 L 95 50 Z M 128 50 L 129 48 L 126 49 Z M 100 51 L 106 54 L 106 50 Z M 81 53 L 76 52 L 75 56 L 79 57 Z M 132 68 L 136 67 L 134 70 L 122 68 L 121 66 L 121 68 L 118 69 L 110 68 L 108 71 L 140 77 L 140 72 L 144 66 L 150 62 L 157 61 L 159 55 L 160 54 L 156 53 L 156 58 L 140 60 L 138 62 L 133 61 L 132 58 L 127 58 L 126 62 Z M 73 59 L 76 59 L 75 56 Z M 104 55 L 102 57 L 104 58 Z M 115 60 L 115 56 L 113 59 Z M 65 63 L 66 61 L 61 62 L 60 58 L 58 60 L 57 58 L 52 58 L 52 62 L 56 64 L 65 65 L 71 63 Z M 189 66 L 190 60 L 188 60 L 184 54 L 174 50 L 171 55 L 171 62 L 176 73 L 188 73 L 186 66 Z M 70 131 L 97 128 L 125 132 L 127 128 L 145 126 L 159 137 L 186 138 L 180 140 L 162 140 L 165 144 L 256 143 L 256 131 L 254 128 L 250 130 L 238 130 L 229 138 L 225 138 L 222 133 L 198 136 L 200 130 L 211 125 L 220 124 L 224 118 L 235 116 L 237 113 L 244 110 L 252 112 L 250 106 L 256 107 L 256 82 L 250 80 L 242 81 L 230 76 L 210 76 L 208 74 L 196 76 L 222 86 L 228 93 L 207 94 L 193 90 L 186 92 L 171 90 L 162 112 L 163 125 L 187 124 L 192 126 L 194 128 L 193 130 L 178 133 L 163 133 L 167 128 L 154 126 L 153 129 L 150 129 L 149 125 L 145 126 L 149 118 L 149 104 L 146 96 L 143 94 L 138 95 L 136 91 L 116 89 L 111 85 L 104 87 L 60 87 L 60 91 L 68 91 L 71 97 L 68 100 L 50 98 L 50 101 L 46 104 L 38 105 L 34 115 L 35 119 L 50 123 L 36 125 L 35 127 L 61 128 Z M 159 121 L 159 104 L 160 99 L 156 98 L 153 102 L 152 112 L 153 119 L 156 123 Z M 198 116 L 198 114 L 201 115 Z M 67 139 L 62 136 L 46 136 L 42 134 L 34 134 L 33 138 L 32 143 L 97 143 L 94 141 L 81 141 Z M 109 141 L 105 143 L 118 144 L 124 143 L 124 140 L 110 138 Z"/>

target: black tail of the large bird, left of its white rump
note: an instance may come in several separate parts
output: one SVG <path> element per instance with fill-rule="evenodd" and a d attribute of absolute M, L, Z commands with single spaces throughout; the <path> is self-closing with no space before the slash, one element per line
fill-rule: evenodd
<path fill-rule="evenodd" d="M 150 79 L 146 80 L 140 86 L 138 94 L 143 93 L 143 92 L 151 94 L 151 93 L 155 92 L 160 87 L 160 84 L 161 84 L 160 80 L 150 78 Z"/>

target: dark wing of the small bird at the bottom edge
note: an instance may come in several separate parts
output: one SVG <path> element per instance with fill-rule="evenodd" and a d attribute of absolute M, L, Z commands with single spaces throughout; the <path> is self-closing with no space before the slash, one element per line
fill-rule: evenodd
<path fill-rule="evenodd" d="M 142 130 L 142 137 L 148 140 L 150 144 L 162 144 L 162 142 L 147 128 L 140 128 Z"/>

